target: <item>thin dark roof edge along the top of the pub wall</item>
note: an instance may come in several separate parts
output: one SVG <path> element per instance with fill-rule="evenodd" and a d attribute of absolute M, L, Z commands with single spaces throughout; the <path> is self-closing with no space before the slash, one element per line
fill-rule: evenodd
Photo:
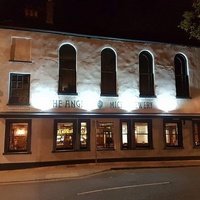
<path fill-rule="evenodd" d="M 68 35 L 68 36 L 75 36 L 75 37 L 114 40 L 114 41 L 122 41 L 122 42 L 152 43 L 152 44 L 165 44 L 165 45 L 167 45 L 167 44 L 169 45 L 170 44 L 170 45 L 176 45 L 176 46 L 187 46 L 187 47 L 200 48 L 199 46 L 178 44 L 178 43 L 170 43 L 170 42 L 157 42 L 157 41 L 151 41 L 151 40 L 136 40 L 136 39 L 127 39 L 127 38 L 118 38 L 118 37 L 109 37 L 109 36 L 100 36 L 100 35 L 78 34 L 78 33 L 72 33 L 72 32 L 47 30 L 47 29 L 36 29 L 36 28 L 25 28 L 25 27 L 18 27 L 18 26 L 0 25 L 0 28 L 1 29 L 20 30 L 20 31 L 33 31 L 33 32 L 39 32 L 39 33 L 51 33 L 51 34 L 59 34 L 59 35 Z"/>

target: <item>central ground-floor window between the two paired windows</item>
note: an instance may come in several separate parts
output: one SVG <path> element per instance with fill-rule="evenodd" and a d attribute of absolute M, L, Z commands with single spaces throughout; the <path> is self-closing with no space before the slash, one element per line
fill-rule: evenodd
<path fill-rule="evenodd" d="M 97 150 L 114 149 L 113 122 L 97 121 L 96 146 Z"/>

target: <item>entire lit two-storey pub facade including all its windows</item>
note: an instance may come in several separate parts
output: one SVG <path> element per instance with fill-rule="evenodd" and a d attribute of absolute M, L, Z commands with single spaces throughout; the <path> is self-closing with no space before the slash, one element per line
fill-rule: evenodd
<path fill-rule="evenodd" d="M 0 167 L 200 158 L 200 48 L 0 29 Z"/>

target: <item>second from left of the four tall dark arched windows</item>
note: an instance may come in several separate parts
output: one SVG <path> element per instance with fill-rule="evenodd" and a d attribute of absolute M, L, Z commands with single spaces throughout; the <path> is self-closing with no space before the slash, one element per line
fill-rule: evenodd
<path fill-rule="evenodd" d="M 116 95 L 116 55 L 110 48 L 101 52 L 101 95 Z"/>

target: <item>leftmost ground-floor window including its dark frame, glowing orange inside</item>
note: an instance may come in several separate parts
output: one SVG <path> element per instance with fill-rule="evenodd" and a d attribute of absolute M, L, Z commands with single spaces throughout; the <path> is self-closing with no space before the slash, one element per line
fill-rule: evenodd
<path fill-rule="evenodd" d="M 6 120 L 5 153 L 30 153 L 31 120 Z"/>

